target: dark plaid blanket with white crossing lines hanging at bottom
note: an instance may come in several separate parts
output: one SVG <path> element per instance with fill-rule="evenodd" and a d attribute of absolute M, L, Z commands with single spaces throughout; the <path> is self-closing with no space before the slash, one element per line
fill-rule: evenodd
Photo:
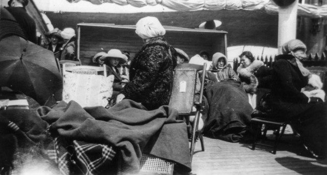
<path fill-rule="evenodd" d="M 55 154 L 52 159 L 58 163 L 61 174 L 101 174 L 112 171 L 112 160 L 116 155 L 112 146 L 90 144 L 74 140 L 71 143 L 54 139 Z"/>

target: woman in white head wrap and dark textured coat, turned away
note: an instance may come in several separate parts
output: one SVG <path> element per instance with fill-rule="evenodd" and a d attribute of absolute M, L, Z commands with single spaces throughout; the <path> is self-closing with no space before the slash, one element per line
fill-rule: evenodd
<path fill-rule="evenodd" d="M 176 50 L 164 38 L 166 30 L 156 17 L 144 17 L 136 24 L 136 34 L 145 40 L 130 64 L 130 82 L 117 97 L 141 102 L 148 110 L 168 105 L 173 71 L 176 67 Z"/>

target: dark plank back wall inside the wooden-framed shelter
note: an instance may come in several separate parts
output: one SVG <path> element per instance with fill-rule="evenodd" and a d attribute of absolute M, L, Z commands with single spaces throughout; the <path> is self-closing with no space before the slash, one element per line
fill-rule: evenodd
<path fill-rule="evenodd" d="M 168 42 L 175 48 L 184 50 L 190 57 L 201 50 L 209 54 L 224 53 L 224 34 L 167 31 Z M 80 58 L 82 64 L 91 64 L 90 57 L 98 52 L 110 49 L 126 50 L 131 57 L 141 49 L 143 41 L 134 29 L 81 27 Z"/>

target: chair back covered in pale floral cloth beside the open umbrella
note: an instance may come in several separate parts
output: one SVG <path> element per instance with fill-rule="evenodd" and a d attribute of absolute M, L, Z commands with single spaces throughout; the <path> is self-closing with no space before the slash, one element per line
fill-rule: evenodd
<path fill-rule="evenodd" d="M 76 101 L 82 107 L 106 106 L 112 96 L 113 75 L 107 77 L 106 65 L 94 67 L 88 65 L 63 64 L 62 100 Z M 98 75 L 104 74 L 103 75 Z"/>

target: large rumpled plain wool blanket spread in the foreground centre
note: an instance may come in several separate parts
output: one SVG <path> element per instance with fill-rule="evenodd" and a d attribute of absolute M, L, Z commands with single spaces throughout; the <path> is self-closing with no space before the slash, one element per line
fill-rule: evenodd
<path fill-rule="evenodd" d="M 102 106 L 82 108 L 75 101 L 39 108 L 41 118 L 51 124 L 50 132 L 64 139 L 114 145 L 123 173 L 139 170 L 142 152 L 177 163 L 191 171 L 186 124 L 176 120 L 169 106 L 146 111 L 140 103 L 123 100 L 106 110 Z"/>

